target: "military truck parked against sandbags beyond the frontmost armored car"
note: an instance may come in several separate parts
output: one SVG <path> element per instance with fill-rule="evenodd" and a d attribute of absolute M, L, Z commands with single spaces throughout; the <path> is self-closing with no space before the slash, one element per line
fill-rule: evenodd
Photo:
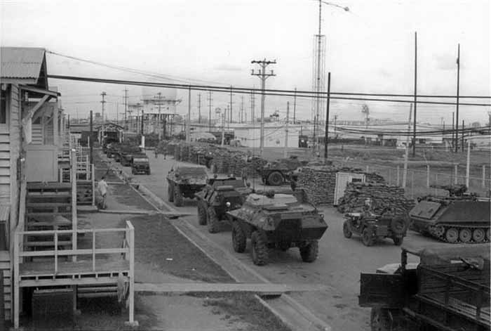
<path fill-rule="evenodd" d="M 261 169 L 261 179 L 266 185 L 280 186 L 285 181 L 290 181 L 290 174 L 295 169 L 308 164 L 307 161 L 300 161 L 298 157 L 292 155 L 286 159 L 279 159 L 274 162 L 264 164 Z"/>

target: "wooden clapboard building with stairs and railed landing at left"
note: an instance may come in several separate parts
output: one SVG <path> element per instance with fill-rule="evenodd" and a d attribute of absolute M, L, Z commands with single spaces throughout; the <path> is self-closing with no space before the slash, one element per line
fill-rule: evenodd
<path fill-rule="evenodd" d="M 4 320 L 19 327 L 24 288 L 71 291 L 76 305 L 79 286 L 116 286 L 121 279 L 133 322 L 133 226 L 77 226 L 80 155 L 65 131 L 60 93 L 49 89 L 45 50 L 2 47 L 0 59 L 0 328 Z M 96 249 L 97 231 L 123 233 L 123 248 Z M 92 249 L 77 249 L 81 233 L 92 234 Z M 116 259 L 107 262 L 102 252 Z M 92 259 L 76 263 L 80 255 Z"/>

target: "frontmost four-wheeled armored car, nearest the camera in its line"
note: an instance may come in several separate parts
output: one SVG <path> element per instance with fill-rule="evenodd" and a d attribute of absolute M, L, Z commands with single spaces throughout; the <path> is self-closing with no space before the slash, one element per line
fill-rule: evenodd
<path fill-rule="evenodd" d="M 328 228 L 323 215 L 314 205 L 303 202 L 301 195 L 252 193 L 239 209 L 227 212 L 232 223 L 234 251 L 245 252 L 250 238 L 253 262 L 268 263 L 270 248 L 286 251 L 300 249 L 304 262 L 313 262 L 318 255 L 318 240 Z"/>

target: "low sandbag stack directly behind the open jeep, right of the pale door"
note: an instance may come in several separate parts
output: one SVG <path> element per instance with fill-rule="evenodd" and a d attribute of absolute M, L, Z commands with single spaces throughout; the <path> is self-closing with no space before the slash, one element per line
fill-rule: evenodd
<path fill-rule="evenodd" d="M 344 197 L 339 200 L 339 212 L 356 212 L 363 208 L 365 200 L 372 200 L 376 209 L 394 208 L 396 214 L 404 214 L 415 206 L 415 201 L 405 197 L 404 189 L 384 183 L 348 183 Z"/>

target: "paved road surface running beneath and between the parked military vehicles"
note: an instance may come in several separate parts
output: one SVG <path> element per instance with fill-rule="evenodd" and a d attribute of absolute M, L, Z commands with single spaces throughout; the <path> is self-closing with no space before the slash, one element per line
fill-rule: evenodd
<path fill-rule="evenodd" d="M 156 159 L 152 153 L 149 153 L 149 160 L 152 175 L 136 175 L 134 181 L 144 184 L 167 202 L 167 183 L 164 183 L 164 179 L 175 161 L 163 160 L 162 155 Z M 176 209 L 193 215 L 182 220 L 200 228 L 208 238 L 213 238 L 227 252 L 253 267 L 272 283 L 326 285 L 327 290 L 292 294 L 292 297 L 311 309 L 318 318 L 332 325 L 333 330 L 370 330 L 368 325 L 370 311 L 358 306 L 360 273 L 375 271 L 379 266 L 397 263 L 400 259 L 400 247 L 396 247 L 391 240 L 379 242 L 373 247 L 365 247 L 356 236 L 351 239 L 344 238 L 342 215 L 334 208 L 323 207 L 322 212 L 329 228 L 319 242 L 319 257 L 314 263 L 303 263 L 298 249 L 290 249 L 288 252 L 271 252 L 270 263 L 259 267 L 255 266 L 250 258 L 249 246 L 245 254 L 234 252 L 227 225 L 223 226 L 222 232 L 216 234 L 210 234 L 206 226 L 198 225 L 194 201 L 187 200 L 184 207 L 176 207 Z M 435 240 L 410 231 L 405 242 L 424 245 Z"/>

